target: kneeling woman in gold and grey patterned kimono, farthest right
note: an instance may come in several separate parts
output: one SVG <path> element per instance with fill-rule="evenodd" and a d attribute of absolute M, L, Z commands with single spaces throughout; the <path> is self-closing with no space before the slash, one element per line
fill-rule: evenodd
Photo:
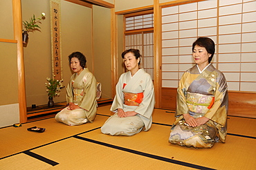
<path fill-rule="evenodd" d="M 225 142 L 227 134 L 228 86 L 226 78 L 210 64 L 214 41 L 199 37 L 192 45 L 195 66 L 179 82 L 176 121 L 169 142 L 186 147 L 210 148 Z"/>

